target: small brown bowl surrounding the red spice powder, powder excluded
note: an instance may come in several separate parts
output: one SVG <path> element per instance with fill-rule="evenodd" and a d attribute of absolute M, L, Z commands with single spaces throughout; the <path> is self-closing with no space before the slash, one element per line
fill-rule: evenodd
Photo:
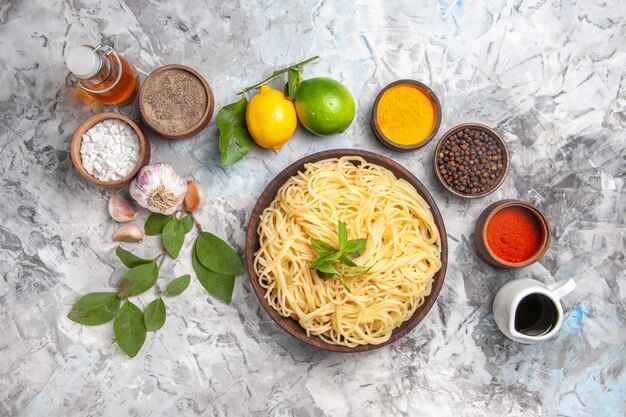
<path fill-rule="evenodd" d="M 535 217 L 541 228 L 541 243 L 537 251 L 523 262 L 509 262 L 499 258 L 487 243 L 487 225 L 493 216 L 505 207 L 520 207 L 528 210 Z M 551 237 L 552 232 L 546 216 L 537 207 L 522 200 L 500 200 L 491 204 L 480 214 L 474 229 L 474 243 L 478 253 L 491 265 L 506 269 L 521 268 L 539 260 L 548 250 Z"/>

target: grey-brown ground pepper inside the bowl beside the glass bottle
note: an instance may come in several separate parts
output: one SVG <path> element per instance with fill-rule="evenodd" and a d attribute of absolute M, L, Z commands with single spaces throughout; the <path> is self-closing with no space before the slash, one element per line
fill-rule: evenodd
<path fill-rule="evenodd" d="M 208 98 L 202 81 L 190 72 L 171 69 L 146 86 L 144 117 L 160 133 L 180 135 L 202 121 Z"/>

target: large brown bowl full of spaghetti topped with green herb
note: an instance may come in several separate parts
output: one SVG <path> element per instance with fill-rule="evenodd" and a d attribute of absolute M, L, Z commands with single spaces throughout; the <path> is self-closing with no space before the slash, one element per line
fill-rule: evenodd
<path fill-rule="evenodd" d="M 345 252 L 346 239 L 362 245 L 339 259 L 333 250 Z M 391 159 L 354 149 L 319 152 L 278 174 L 253 209 L 245 252 L 270 317 L 335 352 L 371 350 L 413 329 L 435 303 L 448 258 L 424 185 Z M 315 269 L 322 256 L 332 270 Z"/>

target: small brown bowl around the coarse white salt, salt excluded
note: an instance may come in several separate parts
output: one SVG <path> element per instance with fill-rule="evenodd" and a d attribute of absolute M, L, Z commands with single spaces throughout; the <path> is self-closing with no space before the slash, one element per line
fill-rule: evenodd
<path fill-rule="evenodd" d="M 85 168 L 83 167 L 80 157 L 80 147 L 82 145 L 83 135 L 85 134 L 85 132 L 91 129 L 95 124 L 107 119 L 118 119 L 127 123 L 128 125 L 130 125 L 130 127 L 133 128 L 133 130 L 137 134 L 137 137 L 139 138 L 139 159 L 137 161 L 137 166 L 126 177 L 116 181 L 101 181 L 91 176 L 91 174 L 89 174 L 87 170 L 85 170 Z M 98 113 L 85 119 L 85 121 L 76 128 L 76 131 L 74 131 L 74 135 L 72 135 L 72 141 L 70 143 L 70 157 L 72 158 L 72 164 L 74 165 L 76 171 L 80 174 L 81 177 L 83 177 L 87 181 L 106 188 L 121 188 L 127 184 L 130 184 L 133 178 L 135 178 L 135 175 L 137 175 L 137 172 L 139 172 L 142 167 L 150 163 L 150 142 L 148 142 L 146 135 L 141 131 L 139 126 L 137 126 L 135 122 L 133 122 L 123 114 Z"/>

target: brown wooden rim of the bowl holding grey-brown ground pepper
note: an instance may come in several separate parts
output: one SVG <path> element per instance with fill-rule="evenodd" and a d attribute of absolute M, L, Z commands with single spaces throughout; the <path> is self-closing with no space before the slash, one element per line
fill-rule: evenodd
<path fill-rule="evenodd" d="M 178 134 L 165 133 L 159 130 L 156 127 L 156 125 L 152 122 L 152 120 L 150 120 L 149 117 L 146 117 L 146 111 L 145 111 L 146 104 L 143 100 L 143 97 L 146 94 L 146 90 L 149 88 L 150 84 L 154 81 L 155 77 L 162 72 L 170 71 L 170 70 L 186 71 L 192 74 L 193 76 L 195 76 L 196 78 L 198 78 L 200 82 L 202 83 L 202 85 L 204 86 L 204 90 L 207 95 L 207 106 L 206 106 L 206 109 L 204 110 L 204 113 L 202 114 L 202 117 L 200 118 L 200 121 L 196 123 L 195 125 L 193 125 L 192 127 L 190 127 L 189 129 L 187 129 L 186 131 L 183 131 Z M 163 65 L 162 67 L 155 69 L 146 77 L 146 79 L 143 81 L 143 84 L 141 85 L 141 88 L 139 89 L 139 112 L 141 113 L 141 118 L 143 119 L 144 122 L 146 122 L 148 126 L 150 126 L 152 130 L 154 130 L 156 133 L 163 136 L 164 138 L 168 138 L 168 139 L 187 139 L 191 136 L 194 136 L 200 133 L 200 131 L 202 131 L 202 129 L 204 129 L 211 121 L 211 117 L 213 117 L 214 107 L 215 107 L 215 99 L 213 97 L 213 90 L 211 89 L 211 86 L 209 85 L 207 80 L 202 75 L 200 75 L 198 71 L 186 65 L 168 64 L 168 65 Z"/>

